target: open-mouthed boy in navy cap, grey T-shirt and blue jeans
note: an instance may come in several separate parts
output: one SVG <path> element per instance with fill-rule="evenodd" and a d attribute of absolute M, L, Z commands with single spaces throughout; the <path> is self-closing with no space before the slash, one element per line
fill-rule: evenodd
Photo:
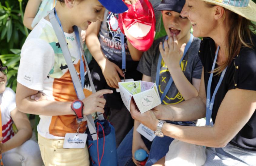
<path fill-rule="evenodd" d="M 157 10 L 162 11 L 167 36 L 153 42 L 151 48 L 144 52 L 137 68 L 143 74 L 143 81 L 156 82 L 161 102 L 165 105 L 180 103 L 197 96 L 200 85 L 202 64 L 198 50 L 201 40 L 190 34 L 191 23 L 180 15 L 184 4 L 185 0 L 163 0 L 158 6 Z M 195 125 L 189 121 L 168 123 Z M 135 121 L 135 130 L 132 129 L 118 147 L 119 166 L 140 165 L 134 158 L 138 149 L 149 153 L 146 166 L 154 164 L 168 152 L 168 145 L 173 138 L 158 137 L 162 135 L 155 131 L 157 137 L 150 142 L 136 131 L 139 124 Z"/>

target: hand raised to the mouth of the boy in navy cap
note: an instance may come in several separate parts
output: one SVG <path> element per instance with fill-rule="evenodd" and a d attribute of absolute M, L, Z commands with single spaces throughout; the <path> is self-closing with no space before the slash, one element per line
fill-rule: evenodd
<path fill-rule="evenodd" d="M 181 48 L 178 47 L 178 40 L 176 35 L 170 36 L 168 41 L 165 40 L 164 49 L 163 43 L 160 42 L 159 51 L 168 69 L 180 67 L 179 62 L 183 55 L 185 46 L 186 44 L 183 44 L 181 45 Z"/>

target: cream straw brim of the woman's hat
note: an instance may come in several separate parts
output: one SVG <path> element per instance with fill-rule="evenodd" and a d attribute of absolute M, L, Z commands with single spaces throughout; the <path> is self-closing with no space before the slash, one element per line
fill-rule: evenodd
<path fill-rule="evenodd" d="M 225 5 L 220 2 L 213 1 L 213 0 L 201 0 L 201 1 L 209 2 L 214 5 L 222 6 L 223 8 L 233 11 L 234 13 L 239 14 L 240 16 L 242 16 L 248 20 L 256 21 L 256 4 L 252 0 L 249 1 L 249 4 L 247 7 L 235 7 L 235 6 L 231 6 L 231 5 Z"/>

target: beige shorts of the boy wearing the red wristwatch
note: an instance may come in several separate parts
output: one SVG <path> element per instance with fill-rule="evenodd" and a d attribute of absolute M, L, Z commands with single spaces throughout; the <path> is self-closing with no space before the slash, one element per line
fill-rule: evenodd
<path fill-rule="evenodd" d="M 38 134 L 38 144 L 45 166 L 89 166 L 88 148 L 64 149 L 64 139 L 47 139 Z"/>

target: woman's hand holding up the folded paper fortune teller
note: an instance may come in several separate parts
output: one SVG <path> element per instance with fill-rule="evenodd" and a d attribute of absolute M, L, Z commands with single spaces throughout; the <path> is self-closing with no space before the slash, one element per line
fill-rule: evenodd
<path fill-rule="evenodd" d="M 156 130 L 159 120 L 156 118 L 154 112 L 152 110 L 149 110 L 141 114 L 141 112 L 136 109 L 133 98 L 131 100 L 130 112 L 131 112 L 131 117 L 133 119 L 135 119 L 136 121 L 139 121 L 140 123 L 144 124 L 145 126 L 147 126 L 153 131 Z"/>

